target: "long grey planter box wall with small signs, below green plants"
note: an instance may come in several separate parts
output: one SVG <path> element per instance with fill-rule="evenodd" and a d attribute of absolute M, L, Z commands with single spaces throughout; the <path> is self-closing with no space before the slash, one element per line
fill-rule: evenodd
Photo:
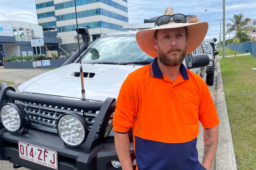
<path fill-rule="evenodd" d="M 49 69 L 61 67 L 67 59 L 50 59 L 38 61 L 12 61 L 3 62 L 4 68 L 8 69 Z"/>

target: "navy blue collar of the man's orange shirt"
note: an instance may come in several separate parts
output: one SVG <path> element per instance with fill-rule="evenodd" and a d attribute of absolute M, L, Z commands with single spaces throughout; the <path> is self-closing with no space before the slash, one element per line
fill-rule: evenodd
<path fill-rule="evenodd" d="M 181 73 L 183 80 L 189 79 L 189 75 L 188 75 L 187 69 L 184 66 L 184 64 L 181 64 L 181 66 L 180 66 L 180 73 Z M 161 70 L 159 69 L 159 67 L 157 65 L 157 57 L 149 65 L 149 74 L 152 77 L 157 77 L 157 78 L 162 78 L 162 79 L 164 78 L 163 73 L 161 72 Z"/>

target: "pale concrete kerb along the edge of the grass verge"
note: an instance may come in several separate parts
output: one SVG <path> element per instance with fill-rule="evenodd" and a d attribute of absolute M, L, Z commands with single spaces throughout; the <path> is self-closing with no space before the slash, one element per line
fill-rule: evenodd
<path fill-rule="evenodd" d="M 217 61 L 217 101 L 216 108 L 220 119 L 219 145 L 216 152 L 215 170 L 237 170 L 236 157 L 230 130 L 227 105 L 223 89 L 222 75 L 219 60 Z"/>

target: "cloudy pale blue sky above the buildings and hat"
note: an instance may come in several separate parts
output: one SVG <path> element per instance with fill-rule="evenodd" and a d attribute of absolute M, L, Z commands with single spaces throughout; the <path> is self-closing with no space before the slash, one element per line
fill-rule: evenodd
<path fill-rule="evenodd" d="M 162 16 L 166 7 L 171 6 L 175 13 L 193 14 L 209 24 L 205 39 L 217 38 L 221 29 L 222 39 L 222 3 L 223 0 L 127 0 L 129 24 L 143 23 L 144 19 Z M 220 8 L 220 9 L 218 9 Z M 207 11 L 205 11 L 207 9 Z M 212 9 L 212 10 L 209 10 Z M 225 24 L 231 22 L 234 14 L 243 13 L 245 17 L 256 19 L 256 0 L 225 0 Z M 0 1 L 0 21 L 18 20 L 37 24 L 34 0 Z M 220 21 L 221 20 L 221 21 Z M 221 22 L 221 27 L 220 27 Z M 227 30 L 227 28 L 226 28 Z M 232 38 L 234 33 L 226 35 Z M 217 41 L 217 42 L 218 42 Z"/>

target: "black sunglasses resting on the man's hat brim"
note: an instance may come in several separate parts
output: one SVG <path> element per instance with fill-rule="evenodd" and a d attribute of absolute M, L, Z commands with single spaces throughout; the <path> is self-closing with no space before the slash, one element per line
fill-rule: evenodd
<path fill-rule="evenodd" d="M 155 26 L 168 24 L 171 17 L 173 17 L 173 20 L 176 23 L 186 23 L 187 22 L 187 17 L 183 14 L 163 15 L 163 16 L 157 18 L 157 20 L 155 22 Z"/>

